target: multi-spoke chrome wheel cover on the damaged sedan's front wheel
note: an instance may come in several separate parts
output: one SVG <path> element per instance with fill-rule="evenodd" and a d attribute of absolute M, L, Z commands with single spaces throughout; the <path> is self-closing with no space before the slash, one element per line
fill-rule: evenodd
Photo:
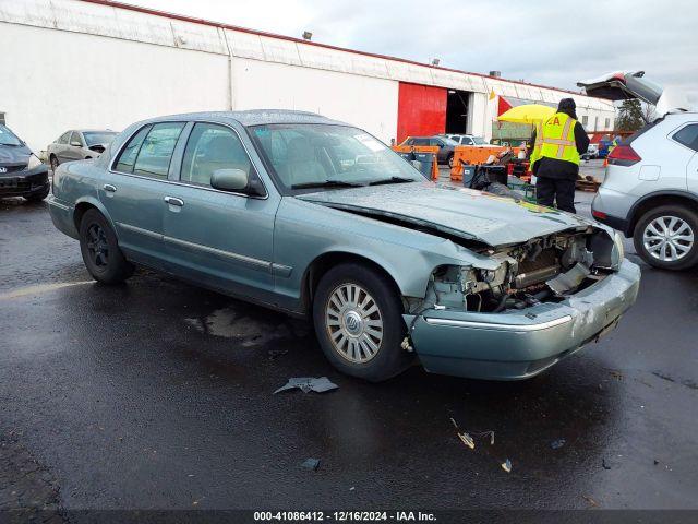
<path fill-rule="evenodd" d="M 350 362 L 368 362 L 381 349 L 381 309 L 357 284 L 341 284 L 332 291 L 325 303 L 325 326 L 335 350 Z"/>

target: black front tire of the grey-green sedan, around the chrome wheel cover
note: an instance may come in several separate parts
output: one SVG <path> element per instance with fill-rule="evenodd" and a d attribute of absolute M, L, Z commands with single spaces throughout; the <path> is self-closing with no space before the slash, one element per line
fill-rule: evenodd
<path fill-rule="evenodd" d="M 337 299 L 335 291 L 341 293 L 344 286 L 358 286 L 359 291 L 354 291 L 354 302 L 366 301 L 365 308 L 352 308 L 347 306 L 346 313 L 335 314 L 339 309 L 330 301 L 333 296 Z M 354 288 L 356 289 L 356 288 Z M 362 294 L 363 291 L 363 294 Z M 377 308 L 377 313 L 363 317 L 359 311 L 366 313 L 373 309 L 369 298 L 373 299 L 373 303 Z M 347 303 L 350 303 L 349 300 Z M 332 311 L 330 311 L 332 310 Z M 353 311 L 353 312 L 352 312 Z M 335 314 L 337 320 L 334 319 Z M 361 331 L 357 338 L 349 334 L 348 320 L 350 317 L 354 319 L 357 315 L 362 317 L 359 321 L 359 327 L 354 330 Z M 404 371 L 413 360 L 413 356 L 402 349 L 400 344 L 407 334 L 405 322 L 402 321 L 402 306 L 400 298 L 395 290 L 395 286 L 388 278 L 381 273 L 360 263 L 346 263 L 337 265 L 329 270 L 320 282 L 315 297 L 313 300 L 313 321 L 315 324 L 315 333 L 323 352 L 332 365 L 345 374 L 358 377 L 371 382 L 380 382 L 390 379 Z M 381 323 L 381 329 L 369 326 L 368 321 L 373 324 Z M 332 325 L 334 323 L 334 325 Z M 354 324 L 357 322 L 353 322 Z M 341 331 L 344 330 L 344 331 Z M 368 331 L 366 331 L 368 330 Z M 340 332 L 337 335 L 338 332 Z M 369 331 L 375 333 L 381 332 L 380 340 L 369 335 Z M 344 334 L 342 334 L 344 333 Z M 338 343 L 333 342 L 333 337 L 337 337 Z M 347 342 L 347 349 L 342 350 L 338 347 L 339 343 Z M 350 342 L 351 341 L 351 342 Z M 377 342 L 376 342 L 377 341 Z M 370 348 L 369 345 L 377 349 Z M 351 346 L 353 344 L 353 346 Z M 359 360 L 351 359 L 349 353 L 350 347 L 358 349 L 353 356 Z M 373 352 L 373 356 L 369 356 L 366 349 Z M 364 361 L 360 361 L 361 359 Z"/>

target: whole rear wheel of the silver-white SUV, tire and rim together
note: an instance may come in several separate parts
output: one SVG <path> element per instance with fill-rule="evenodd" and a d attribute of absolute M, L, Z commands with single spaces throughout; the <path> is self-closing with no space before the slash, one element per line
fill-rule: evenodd
<path fill-rule="evenodd" d="M 640 217 L 633 236 L 642 259 L 663 270 L 698 263 L 698 214 L 683 205 L 662 205 Z"/>

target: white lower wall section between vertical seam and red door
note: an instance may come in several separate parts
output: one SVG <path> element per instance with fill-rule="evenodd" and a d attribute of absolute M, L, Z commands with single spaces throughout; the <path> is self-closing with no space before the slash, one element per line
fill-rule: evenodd
<path fill-rule="evenodd" d="M 398 82 L 236 58 L 234 109 L 297 109 L 360 126 L 385 143 L 397 133 Z"/>

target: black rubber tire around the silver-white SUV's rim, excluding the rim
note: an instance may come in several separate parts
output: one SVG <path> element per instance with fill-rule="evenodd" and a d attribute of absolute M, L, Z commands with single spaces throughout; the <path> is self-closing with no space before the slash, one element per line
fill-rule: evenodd
<path fill-rule="evenodd" d="M 660 260 L 658 258 L 658 253 L 652 254 L 652 252 L 650 252 L 650 250 L 648 250 L 645 245 L 645 231 L 648 229 L 648 226 L 658 219 L 662 222 L 662 217 L 669 217 L 670 219 L 674 217 L 678 218 L 687 226 L 688 229 L 691 230 L 690 233 L 693 233 L 693 246 L 690 246 L 688 251 L 685 252 L 681 258 L 677 258 L 677 260 Z M 675 234 L 679 233 L 679 225 L 681 223 L 678 223 L 678 225 L 674 227 Z M 654 227 L 654 229 L 657 229 L 657 226 Z M 652 235 L 652 231 L 648 230 L 648 234 Z M 635 251 L 648 264 L 662 270 L 686 270 L 698 264 L 698 214 L 684 205 L 662 205 L 655 207 L 648 211 L 640 217 L 637 225 L 635 226 L 633 240 L 635 242 Z M 682 241 L 684 242 L 683 246 L 688 246 L 685 240 Z M 650 245 L 650 247 L 652 246 L 651 242 L 648 243 Z M 671 251 L 669 252 L 671 253 Z"/>

